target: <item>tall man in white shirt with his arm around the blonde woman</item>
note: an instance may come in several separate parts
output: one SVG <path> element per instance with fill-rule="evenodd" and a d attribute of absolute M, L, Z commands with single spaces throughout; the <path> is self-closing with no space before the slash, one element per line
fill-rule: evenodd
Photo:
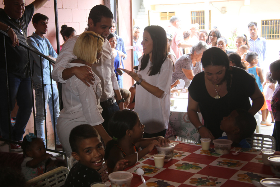
<path fill-rule="evenodd" d="M 52 71 L 53 79 L 61 83 L 66 83 L 67 79 L 75 75 L 87 86 L 90 86 L 94 80 L 92 71 L 100 78 L 102 86 L 100 105 L 103 108 L 101 115 L 105 120 L 102 125 L 107 132 L 107 124 L 111 114 L 124 109 L 124 99 L 119 91 L 117 77 L 114 73 L 114 55 L 109 41 L 106 40 L 111 32 L 113 18 L 112 12 L 105 5 L 96 5 L 89 13 L 88 28 L 85 31 L 93 31 L 105 39 L 102 56 L 99 63 L 92 65 L 92 70 L 87 66 L 65 68 L 69 60 L 77 58 L 73 55 L 77 36 L 65 42 Z M 116 95 L 116 99 L 114 95 Z M 96 130 L 98 131 L 98 129 Z"/>

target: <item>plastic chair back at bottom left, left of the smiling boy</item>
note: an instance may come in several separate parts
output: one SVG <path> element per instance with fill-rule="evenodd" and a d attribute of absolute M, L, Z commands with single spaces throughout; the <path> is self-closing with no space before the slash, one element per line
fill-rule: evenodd
<path fill-rule="evenodd" d="M 25 187 L 59 187 L 63 186 L 68 175 L 67 167 L 58 167 L 26 182 Z"/>

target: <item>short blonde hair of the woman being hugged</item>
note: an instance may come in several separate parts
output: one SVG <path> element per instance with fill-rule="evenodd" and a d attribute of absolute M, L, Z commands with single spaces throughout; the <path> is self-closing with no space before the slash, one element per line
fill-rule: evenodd
<path fill-rule="evenodd" d="M 73 54 L 90 64 L 97 63 L 97 53 L 102 51 L 104 38 L 92 31 L 83 32 L 77 39 Z"/>

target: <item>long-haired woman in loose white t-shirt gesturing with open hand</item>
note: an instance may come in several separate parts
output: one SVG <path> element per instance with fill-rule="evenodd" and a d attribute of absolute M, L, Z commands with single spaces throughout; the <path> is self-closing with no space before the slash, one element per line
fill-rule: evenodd
<path fill-rule="evenodd" d="M 143 53 L 138 73 L 124 70 L 136 80 L 134 111 L 145 125 L 143 137 L 165 136 L 170 112 L 172 60 L 167 58 L 166 32 L 161 26 L 147 26 L 143 32 Z"/>

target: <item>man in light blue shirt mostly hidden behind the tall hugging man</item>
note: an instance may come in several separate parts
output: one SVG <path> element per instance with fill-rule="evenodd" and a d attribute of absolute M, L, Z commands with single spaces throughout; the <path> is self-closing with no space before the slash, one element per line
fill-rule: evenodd
<path fill-rule="evenodd" d="M 113 26 L 111 29 L 112 33 L 115 33 L 115 31 L 117 30 L 117 26 L 116 26 L 116 22 L 115 20 L 113 20 Z M 124 53 L 124 58 L 121 56 L 121 62 L 122 62 L 122 68 L 124 68 L 124 60 L 126 60 L 127 58 L 127 53 L 125 50 L 125 46 L 124 46 L 124 40 L 117 35 L 117 46 L 115 48 L 116 50 L 120 51 L 120 53 Z M 123 88 L 124 87 L 124 77 L 123 76 L 119 76 L 119 80 L 118 80 L 118 84 L 119 84 L 119 88 Z"/>

